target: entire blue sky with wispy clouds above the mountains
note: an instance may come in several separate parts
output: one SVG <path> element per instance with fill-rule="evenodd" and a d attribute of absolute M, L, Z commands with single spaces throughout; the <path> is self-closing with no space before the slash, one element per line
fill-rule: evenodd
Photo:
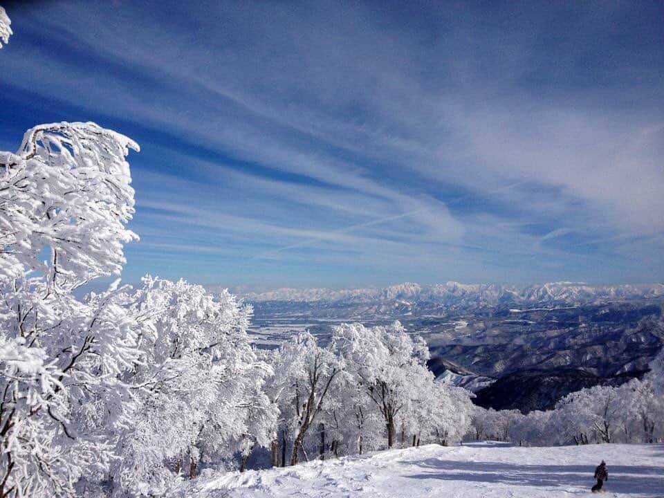
<path fill-rule="evenodd" d="M 123 277 L 664 280 L 661 2 L 1 2 L 0 149 L 130 136 Z"/>

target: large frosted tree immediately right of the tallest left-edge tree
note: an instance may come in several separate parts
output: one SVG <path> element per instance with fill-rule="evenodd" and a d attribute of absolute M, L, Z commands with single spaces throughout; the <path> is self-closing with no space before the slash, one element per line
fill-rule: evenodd
<path fill-rule="evenodd" d="M 271 371 L 246 334 L 250 306 L 228 291 L 213 296 L 152 277 L 126 299 L 142 331 L 131 378 L 140 404 L 115 472 L 121 488 L 163 493 L 185 461 L 193 478 L 204 457 L 240 452 L 244 463 L 255 445 L 268 446 L 276 414 L 263 385 Z"/>

